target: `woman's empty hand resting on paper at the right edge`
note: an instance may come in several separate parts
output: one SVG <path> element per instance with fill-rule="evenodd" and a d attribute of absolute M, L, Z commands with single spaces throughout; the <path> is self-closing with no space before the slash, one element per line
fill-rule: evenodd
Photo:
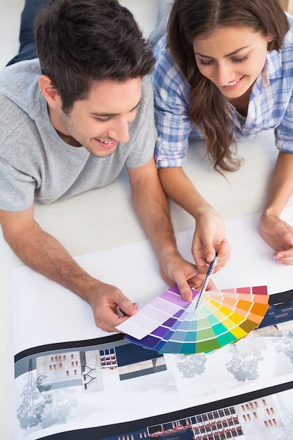
<path fill-rule="evenodd" d="M 293 264 L 293 228 L 272 214 L 261 216 L 261 235 L 275 252 L 273 258 L 282 264 Z"/>

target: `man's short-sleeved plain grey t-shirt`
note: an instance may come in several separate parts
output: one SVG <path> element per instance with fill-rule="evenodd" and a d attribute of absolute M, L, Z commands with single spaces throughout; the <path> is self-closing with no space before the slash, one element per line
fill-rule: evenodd
<path fill-rule="evenodd" d="M 0 74 L 0 209 L 6 211 L 22 211 L 34 200 L 48 204 L 105 186 L 124 164 L 146 164 L 155 148 L 149 77 L 142 81 L 129 141 L 119 143 L 112 155 L 98 158 L 58 136 L 39 90 L 39 75 L 37 59 L 5 67 Z"/>

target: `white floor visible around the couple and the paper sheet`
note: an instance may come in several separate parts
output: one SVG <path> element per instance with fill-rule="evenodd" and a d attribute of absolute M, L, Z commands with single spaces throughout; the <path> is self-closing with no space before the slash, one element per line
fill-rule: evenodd
<path fill-rule="evenodd" d="M 18 50 L 18 26 L 23 4 L 24 0 L 0 0 L 0 68 Z M 122 4 L 133 11 L 145 37 L 148 37 L 156 25 L 157 0 L 124 0 Z M 239 144 L 239 153 L 245 157 L 245 163 L 238 172 L 227 174 L 227 180 L 214 172 L 198 145 L 194 148 L 190 145 L 185 166 L 190 179 L 224 219 L 261 212 L 277 155 L 273 134 L 266 132 L 253 141 L 243 141 Z M 193 219 L 173 204 L 171 214 L 176 231 L 193 228 Z M 108 187 L 49 207 L 36 206 L 36 216 L 41 226 L 61 240 L 72 255 L 145 238 L 134 214 L 128 181 L 123 173 Z M 231 245 L 233 249 L 233 243 Z M 13 379 L 10 279 L 11 269 L 21 263 L 1 233 L 0 261 L 0 437 L 10 440 Z"/>

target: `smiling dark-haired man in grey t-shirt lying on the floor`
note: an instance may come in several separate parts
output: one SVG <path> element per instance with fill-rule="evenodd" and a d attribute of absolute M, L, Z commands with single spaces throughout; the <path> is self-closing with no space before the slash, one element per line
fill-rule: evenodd
<path fill-rule="evenodd" d="M 42 4 L 36 53 L 32 19 Z M 126 165 L 160 272 L 190 299 L 187 280 L 199 287 L 203 276 L 176 249 L 152 157 L 156 133 L 148 74 L 154 59 L 133 16 L 117 0 L 27 0 L 20 43 L 20 54 L 0 76 L 4 238 L 27 266 L 89 302 L 98 327 L 114 331 L 136 313 L 137 304 L 86 273 L 37 224 L 34 201 L 48 204 L 105 186 Z"/>

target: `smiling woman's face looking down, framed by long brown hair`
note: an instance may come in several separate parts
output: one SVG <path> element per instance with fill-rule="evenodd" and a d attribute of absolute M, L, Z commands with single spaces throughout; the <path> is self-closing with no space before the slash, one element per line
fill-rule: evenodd
<path fill-rule="evenodd" d="M 254 84 L 266 61 L 271 36 L 250 27 L 221 27 L 193 40 L 197 67 L 226 98 L 239 98 Z"/>

